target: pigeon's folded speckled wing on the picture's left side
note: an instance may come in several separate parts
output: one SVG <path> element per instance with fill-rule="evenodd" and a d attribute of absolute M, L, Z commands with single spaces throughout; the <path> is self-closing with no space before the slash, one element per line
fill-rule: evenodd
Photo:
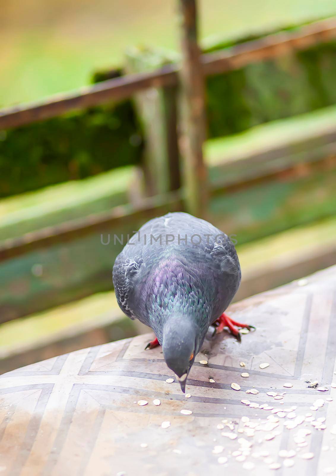
<path fill-rule="evenodd" d="M 135 281 L 140 272 L 141 261 L 141 259 L 129 258 L 121 252 L 113 266 L 113 285 L 117 302 L 121 310 L 131 319 L 138 317 L 132 309 L 131 297 L 136 286 Z"/>

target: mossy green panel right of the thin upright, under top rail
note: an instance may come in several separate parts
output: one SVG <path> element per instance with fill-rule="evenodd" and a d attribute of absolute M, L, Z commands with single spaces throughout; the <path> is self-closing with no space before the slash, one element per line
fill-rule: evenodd
<path fill-rule="evenodd" d="M 208 136 L 234 134 L 335 104 L 335 84 L 336 41 L 209 77 Z"/>

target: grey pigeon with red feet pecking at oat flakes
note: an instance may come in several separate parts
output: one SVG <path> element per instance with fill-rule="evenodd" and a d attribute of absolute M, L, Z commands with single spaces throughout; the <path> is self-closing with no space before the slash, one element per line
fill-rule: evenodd
<path fill-rule="evenodd" d="M 224 314 L 241 282 L 236 250 L 228 236 L 188 213 L 153 218 L 129 239 L 113 266 L 121 310 L 151 327 L 167 366 L 185 392 L 187 376 L 210 325 L 215 332 L 254 328 Z"/>

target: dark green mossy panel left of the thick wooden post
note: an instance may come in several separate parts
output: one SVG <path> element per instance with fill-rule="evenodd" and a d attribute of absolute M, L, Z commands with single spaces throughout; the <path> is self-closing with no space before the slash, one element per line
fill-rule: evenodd
<path fill-rule="evenodd" d="M 0 131 L 0 197 L 140 162 L 131 101 Z"/>

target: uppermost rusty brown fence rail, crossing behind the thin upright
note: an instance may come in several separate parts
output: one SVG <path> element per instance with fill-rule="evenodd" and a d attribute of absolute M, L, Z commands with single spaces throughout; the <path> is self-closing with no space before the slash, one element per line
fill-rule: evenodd
<path fill-rule="evenodd" d="M 336 38 L 334 18 L 317 21 L 299 30 L 280 32 L 259 40 L 248 41 L 228 50 L 203 54 L 201 63 L 205 76 L 210 76 L 238 69 L 249 63 L 271 59 L 289 50 L 302 50 L 332 38 Z M 50 119 L 74 109 L 97 106 L 111 100 L 126 99 L 143 89 L 174 86 L 178 82 L 178 71 L 179 65 L 169 64 L 149 73 L 108 79 L 74 92 L 57 94 L 51 99 L 1 109 L 0 129 Z"/>

